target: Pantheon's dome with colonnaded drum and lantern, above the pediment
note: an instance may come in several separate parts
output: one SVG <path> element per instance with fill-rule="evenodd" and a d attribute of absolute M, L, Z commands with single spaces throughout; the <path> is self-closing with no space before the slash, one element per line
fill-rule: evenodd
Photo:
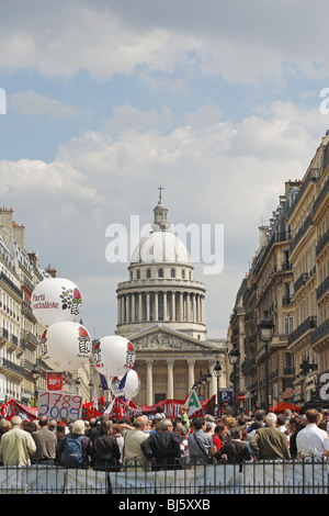
<path fill-rule="evenodd" d="M 117 285 L 116 333 L 126 336 L 163 323 L 205 339 L 205 288 L 193 280 L 193 269 L 185 245 L 170 232 L 160 194 L 152 229 L 132 254 L 129 280 Z"/>

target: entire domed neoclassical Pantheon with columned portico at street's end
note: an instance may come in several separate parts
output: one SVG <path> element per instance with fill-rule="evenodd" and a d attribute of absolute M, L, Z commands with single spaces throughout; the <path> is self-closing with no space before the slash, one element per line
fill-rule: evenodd
<path fill-rule="evenodd" d="M 225 368 L 226 339 L 207 338 L 205 287 L 193 279 L 190 255 L 169 228 L 160 194 L 152 231 L 132 255 L 128 281 L 118 283 L 116 290 L 116 334 L 129 338 L 136 350 L 134 369 L 141 388 L 134 402 L 139 406 L 184 400 L 207 372 L 211 381 L 201 394 L 208 397 L 217 390 L 216 360 Z M 225 372 L 220 382 L 224 379 Z"/>

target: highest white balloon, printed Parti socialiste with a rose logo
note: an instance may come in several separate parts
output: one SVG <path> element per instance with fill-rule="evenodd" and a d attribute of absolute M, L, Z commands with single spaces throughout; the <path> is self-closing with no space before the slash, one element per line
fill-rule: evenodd
<path fill-rule="evenodd" d="M 31 306 L 35 318 L 45 326 L 75 321 L 82 306 L 78 287 L 65 278 L 47 278 L 32 292 Z"/>

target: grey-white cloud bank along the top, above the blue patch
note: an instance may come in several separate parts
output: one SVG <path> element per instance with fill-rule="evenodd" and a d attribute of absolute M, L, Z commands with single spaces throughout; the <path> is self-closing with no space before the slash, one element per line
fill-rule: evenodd
<path fill-rule="evenodd" d="M 298 74 L 309 79 L 329 75 L 321 52 L 329 7 L 321 1 L 207 1 L 202 9 L 191 0 L 128 4 L 32 1 L 27 9 L 23 0 L 14 2 L 1 18 L 0 44 L 7 52 L 0 69 L 66 78 L 88 70 L 101 81 L 140 67 L 184 71 L 184 79 L 158 81 L 173 89 L 200 72 L 251 86 L 262 80 L 281 85 Z"/>

